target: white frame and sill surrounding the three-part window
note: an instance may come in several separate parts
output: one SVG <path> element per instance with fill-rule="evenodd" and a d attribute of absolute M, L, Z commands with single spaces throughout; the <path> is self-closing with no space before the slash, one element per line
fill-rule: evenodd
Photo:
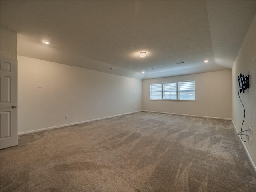
<path fill-rule="evenodd" d="M 180 82 L 194 82 L 194 99 L 180 99 L 179 98 L 179 83 Z M 168 83 L 176 83 L 176 99 L 164 99 L 164 84 L 168 84 Z M 186 80 L 186 81 L 175 81 L 175 82 L 163 82 L 163 83 L 152 83 L 150 84 L 150 94 L 151 94 L 151 85 L 155 85 L 155 84 L 161 84 L 161 94 L 162 97 L 161 99 L 151 99 L 150 96 L 150 100 L 158 100 L 158 101 L 187 101 L 187 102 L 194 102 L 196 101 L 196 81 L 195 80 Z"/>

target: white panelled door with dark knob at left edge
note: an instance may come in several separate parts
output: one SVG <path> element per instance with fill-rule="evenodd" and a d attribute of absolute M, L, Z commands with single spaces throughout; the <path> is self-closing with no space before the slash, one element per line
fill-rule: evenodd
<path fill-rule="evenodd" d="M 0 148 L 18 145 L 17 60 L 1 58 L 0 65 Z"/>

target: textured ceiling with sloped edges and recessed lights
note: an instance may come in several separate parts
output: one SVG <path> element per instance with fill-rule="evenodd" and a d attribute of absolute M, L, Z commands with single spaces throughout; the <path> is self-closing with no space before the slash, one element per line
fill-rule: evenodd
<path fill-rule="evenodd" d="M 1 28 L 19 55 L 146 79 L 231 69 L 255 13 L 256 1 L 1 0 Z"/>

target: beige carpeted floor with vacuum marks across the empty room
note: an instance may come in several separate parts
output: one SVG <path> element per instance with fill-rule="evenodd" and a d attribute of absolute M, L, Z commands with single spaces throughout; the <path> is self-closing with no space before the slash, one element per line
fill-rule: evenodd
<path fill-rule="evenodd" d="M 255 192 L 230 120 L 139 112 L 19 136 L 1 192 Z"/>

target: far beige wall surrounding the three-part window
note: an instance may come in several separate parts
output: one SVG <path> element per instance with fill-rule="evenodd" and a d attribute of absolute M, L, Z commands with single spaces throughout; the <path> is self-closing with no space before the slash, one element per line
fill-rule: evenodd
<path fill-rule="evenodd" d="M 195 80 L 195 102 L 150 100 L 150 84 L 190 80 Z M 142 109 L 230 119 L 231 89 L 231 70 L 143 80 Z"/>

